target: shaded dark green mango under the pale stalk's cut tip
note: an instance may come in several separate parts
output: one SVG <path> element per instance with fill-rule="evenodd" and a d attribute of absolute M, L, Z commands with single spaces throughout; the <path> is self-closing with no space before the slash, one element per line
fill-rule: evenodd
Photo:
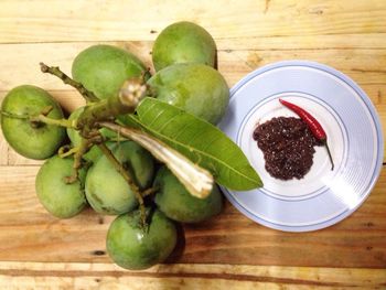
<path fill-rule="evenodd" d="M 158 208 L 169 218 L 182 223 L 199 223 L 221 213 L 223 197 L 215 185 L 206 198 L 191 195 L 167 168 L 161 168 L 154 180 Z"/>

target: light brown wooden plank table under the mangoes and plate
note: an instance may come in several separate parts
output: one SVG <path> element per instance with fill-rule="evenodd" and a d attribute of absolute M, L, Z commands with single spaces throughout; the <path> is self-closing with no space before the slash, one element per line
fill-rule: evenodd
<path fill-rule="evenodd" d="M 386 132 L 386 2 L 260 1 L 0 1 L 0 100 L 20 84 L 50 90 L 66 108 L 82 105 L 39 62 L 71 72 L 95 43 L 128 49 L 151 65 L 168 24 L 190 20 L 218 46 L 229 86 L 282 60 L 311 60 L 347 74 L 368 94 Z M 386 289 L 386 170 L 349 218 L 314 233 L 262 227 L 226 204 L 210 223 L 185 226 L 168 264 L 126 271 L 106 255 L 111 217 L 92 211 L 51 217 L 39 204 L 41 162 L 15 154 L 0 137 L 0 289 Z"/>

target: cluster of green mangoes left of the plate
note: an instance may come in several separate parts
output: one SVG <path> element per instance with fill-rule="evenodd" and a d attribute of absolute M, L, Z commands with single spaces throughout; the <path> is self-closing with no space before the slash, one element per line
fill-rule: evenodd
<path fill-rule="evenodd" d="M 212 36 L 191 22 L 178 22 L 164 29 L 152 49 L 156 68 L 147 75 L 147 84 L 157 98 L 216 123 L 224 115 L 229 90 L 223 76 L 214 68 L 216 46 Z M 106 99 L 118 94 L 122 83 L 147 73 L 132 53 L 111 45 L 94 45 L 81 52 L 73 62 L 73 78 Z M 112 260 L 127 269 L 144 269 L 162 262 L 176 244 L 175 222 L 203 222 L 222 210 L 222 195 L 215 186 L 206 198 L 192 196 L 179 180 L 143 148 L 132 141 L 100 129 L 115 158 L 136 185 L 144 191 L 157 189 L 147 198 L 148 228 L 140 225 L 138 201 L 121 174 L 94 146 L 83 159 L 75 182 L 66 182 L 73 173 L 73 158 L 63 158 L 57 150 L 69 139 L 71 147 L 82 142 L 73 128 L 47 125 L 23 116 L 39 115 L 50 107 L 47 118 L 63 119 L 56 100 L 42 88 L 23 85 L 6 96 L 1 128 L 7 141 L 20 154 L 45 160 L 36 175 L 40 202 L 54 216 L 69 218 L 89 204 L 97 213 L 117 215 L 107 234 L 107 251 Z M 76 120 L 84 107 L 68 120 Z M 154 120 L 157 121 L 157 120 Z M 68 137 L 68 139 L 67 139 Z"/>

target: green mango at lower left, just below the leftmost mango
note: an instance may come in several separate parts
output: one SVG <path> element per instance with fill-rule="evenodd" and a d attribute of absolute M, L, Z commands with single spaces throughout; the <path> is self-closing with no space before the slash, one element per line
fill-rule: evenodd
<path fill-rule="evenodd" d="M 39 201 L 52 215 L 69 218 L 87 205 L 84 194 L 86 171 L 79 171 L 79 178 L 74 183 L 66 183 L 65 178 L 73 174 L 72 158 L 62 159 L 54 155 L 46 160 L 37 172 L 35 190 Z"/>

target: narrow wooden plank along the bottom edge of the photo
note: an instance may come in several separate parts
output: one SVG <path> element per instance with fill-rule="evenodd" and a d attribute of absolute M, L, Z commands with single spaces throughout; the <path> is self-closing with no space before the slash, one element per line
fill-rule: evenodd
<path fill-rule="evenodd" d="M 176 264 L 127 271 L 112 264 L 0 262 L 0 278 L 1 289 L 379 289 L 386 270 Z"/>

